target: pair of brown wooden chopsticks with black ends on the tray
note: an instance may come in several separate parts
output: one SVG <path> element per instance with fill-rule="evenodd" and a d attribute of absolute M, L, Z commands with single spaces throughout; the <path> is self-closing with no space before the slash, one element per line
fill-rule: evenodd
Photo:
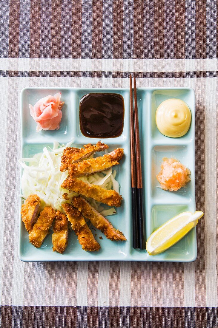
<path fill-rule="evenodd" d="M 130 140 L 131 140 L 130 149 L 131 149 L 133 248 L 145 249 L 142 164 L 141 164 L 141 153 L 140 153 L 136 76 L 134 75 L 134 106 L 133 106 L 132 74 L 130 74 Z"/>

